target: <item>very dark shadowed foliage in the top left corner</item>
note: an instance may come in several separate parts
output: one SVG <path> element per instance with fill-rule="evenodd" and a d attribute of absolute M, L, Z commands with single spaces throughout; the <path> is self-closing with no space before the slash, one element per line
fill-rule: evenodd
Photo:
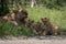
<path fill-rule="evenodd" d="M 0 1 L 0 16 L 3 14 L 9 13 L 9 7 L 8 7 L 8 1 L 7 0 L 1 0 Z"/>

